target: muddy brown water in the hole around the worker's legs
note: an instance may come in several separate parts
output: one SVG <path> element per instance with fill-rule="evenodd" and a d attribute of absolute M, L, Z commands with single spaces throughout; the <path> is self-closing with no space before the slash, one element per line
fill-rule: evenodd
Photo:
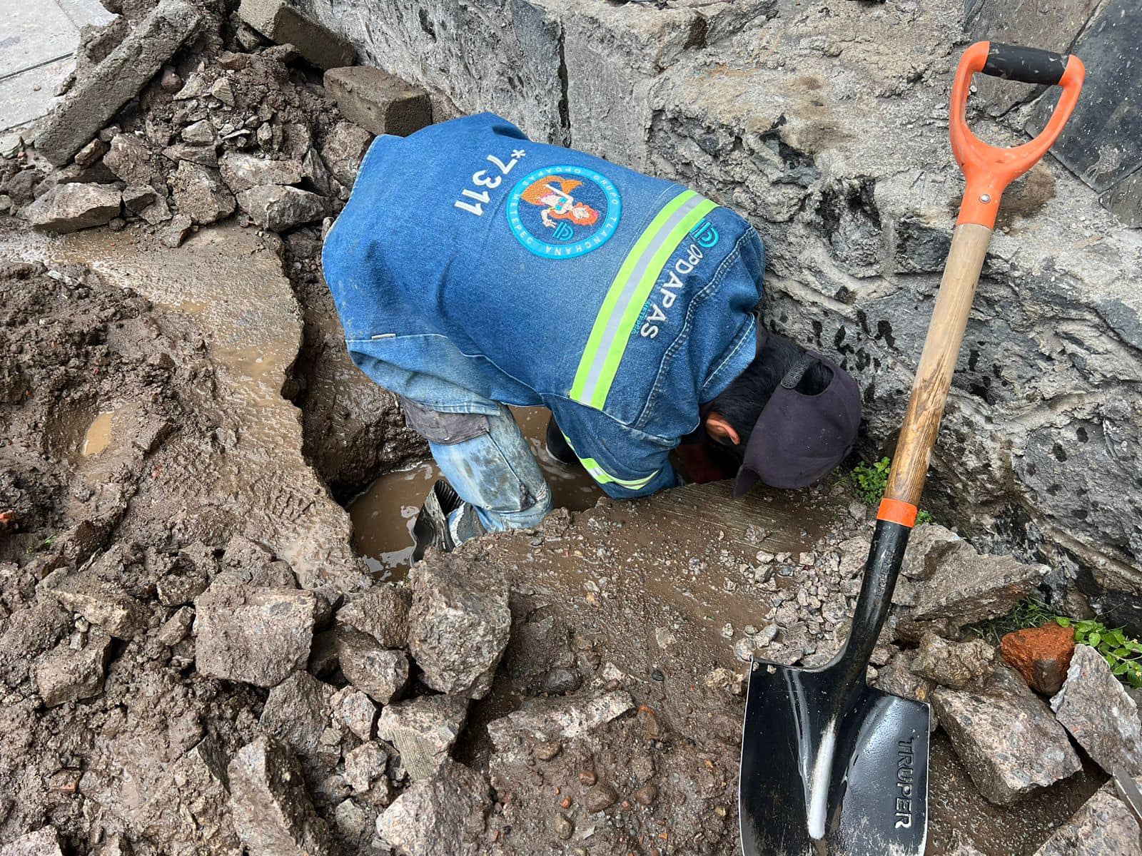
<path fill-rule="evenodd" d="M 565 467 L 547 454 L 545 434 L 550 412 L 546 407 L 513 407 L 512 412 L 547 477 L 554 507 L 572 511 L 592 508 L 603 495 L 594 479 L 581 467 Z M 353 547 L 378 579 L 404 575 L 412 557 L 412 524 L 440 477 L 436 465 L 427 461 L 381 476 L 349 503 Z"/>

